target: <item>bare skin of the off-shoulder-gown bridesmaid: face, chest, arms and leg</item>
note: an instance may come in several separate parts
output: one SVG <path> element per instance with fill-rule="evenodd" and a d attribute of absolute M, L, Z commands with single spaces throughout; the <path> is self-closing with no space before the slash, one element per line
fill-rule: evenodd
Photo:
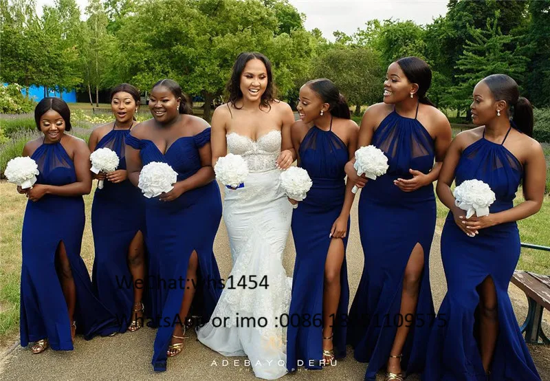
<path fill-rule="evenodd" d="M 153 119 L 137 124 L 132 129 L 131 134 L 141 140 L 151 140 L 157 146 L 159 152 L 165 155 L 170 146 L 179 138 L 197 135 L 197 133 L 209 127 L 208 123 L 201 118 L 180 114 L 178 112 L 180 102 L 181 98 L 176 98 L 167 87 L 162 85 L 153 87 L 149 100 L 149 109 L 151 110 L 151 114 L 153 114 Z M 201 168 L 199 171 L 195 175 L 173 184 L 173 190 L 170 190 L 168 193 L 162 193 L 159 196 L 160 201 L 171 202 L 186 191 L 205 186 L 214 180 L 210 143 L 205 144 L 199 149 L 199 157 L 201 159 Z M 128 178 L 135 186 L 137 186 L 137 182 L 139 181 L 142 167 L 140 151 L 126 144 Z M 189 259 L 186 281 L 187 291 L 184 293 L 179 311 L 179 316 L 182 316 L 182 318 L 187 316 L 192 298 L 195 296 L 195 285 L 192 282 L 197 279 L 197 269 L 197 253 L 193 252 Z M 181 325 L 175 326 L 173 335 L 183 337 L 183 328 Z M 182 341 L 180 338 L 172 338 L 170 344 Z M 175 350 L 168 350 L 168 355 L 173 353 L 175 353 Z"/>

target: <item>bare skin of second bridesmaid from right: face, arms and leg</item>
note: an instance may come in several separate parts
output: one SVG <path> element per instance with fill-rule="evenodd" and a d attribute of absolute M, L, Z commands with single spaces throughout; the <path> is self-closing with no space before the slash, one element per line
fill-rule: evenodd
<path fill-rule="evenodd" d="M 393 111 L 394 107 L 400 116 L 415 118 L 418 105 L 417 120 L 434 140 L 435 164 L 428 174 L 417 171 L 415 168 L 410 168 L 409 172 L 412 175 L 412 179 L 396 179 L 394 182 L 395 186 L 404 192 L 414 192 L 423 186 L 432 184 L 437 179 L 439 171 L 441 171 L 441 162 L 452 139 L 450 123 L 447 117 L 435 107 L 424 105 L 423 103 L 419 104 L 418 89 L 419 85 L 411 83 L 403 70 L 401 70 L 401 67 L 397 63 L 392 63 L 388 67 L 386 81 L 384 82 L 384 103 L 377 103 L 366 109 L 359 130 L 358 146 L 368 146 L 372 142 L 376 129 L 380 126 L 382 120 Z M 412 98 L 410 97 L 411 94 Z M 368 179 L 364 175 L 357 175 L 357 171 L 353 168 L 354 163 L 355 158 L 346 164 L 346 174 L 351 182 L 354 182 L 358 188 L 362 188 Z M 407 316 L 407 314 L 412 316 L 412 314 L 415 314 L 423 268 L 424 252 L 422 246 L 417 243 L 410 253 L 405 268 L 403 292 L 401 294 L 401 310 L 399 312 L 401 316 Z M 391 356 L 401 354 L 410 329 L 410 325 L 409 327 L 407 325 L 404 324 L 397 328 L 393 347 L 390 352 Z M 399 358 L 388 359 L 388 372 L 402 372 Z"/>

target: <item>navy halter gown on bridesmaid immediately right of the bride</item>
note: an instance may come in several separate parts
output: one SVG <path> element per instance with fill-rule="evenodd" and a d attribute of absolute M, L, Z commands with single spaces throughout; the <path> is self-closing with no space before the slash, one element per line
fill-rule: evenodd
<path fill-rule="evenodd" d="M 307 131 L 299 153 L 300 166 L 307 171 L 313 185 L 292 214 L 296 263 L 287 330 L 289 371 L 298 369 L 298 360 L 303 361 L 300 365 L 306 369 L 321 368 L 325 262 L 331 243 L 329 233 L 344 204 L 344 166 L 349 160 L 347 146 L 336 133 L 316 126 Z M 344 250 L 347 240 L 347 237 L 343 239 Z M 340 287 L 340 302 L 332 323 L 336 358 L 346 356 L 346 325 L 342 322 L 348 311 L 349 286 L 345 256 L 340 270 Z"/>

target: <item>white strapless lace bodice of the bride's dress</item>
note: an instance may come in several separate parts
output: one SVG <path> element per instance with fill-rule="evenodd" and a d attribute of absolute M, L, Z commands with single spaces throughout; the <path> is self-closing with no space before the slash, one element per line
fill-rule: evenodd
<path fill-rule="evenodd" d="M 232 132 L 227 135 L 228 149 L 234 155 L 241 155 L 251 173 L 275 169 L 277 156 L 281 153 L 281 131 L 273 130 L 254 141 L 248 136 Z"/>

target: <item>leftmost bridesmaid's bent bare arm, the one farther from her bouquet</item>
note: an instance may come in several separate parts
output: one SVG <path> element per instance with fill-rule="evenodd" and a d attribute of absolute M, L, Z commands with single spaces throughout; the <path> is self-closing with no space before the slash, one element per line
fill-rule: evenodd
<path fill-rule="evenodd" d="M 28 192 L 30 200 L 38 201 L 44 195 L 64 197 L 89 195 L 91 191 L 90 150 L 84 140 L 78 138 L 71 139 L 73 141 L 69 141 L 68 144 L 74 146 L 73 162 L 76 182 L 61 186 L 36 184 Z"/>

